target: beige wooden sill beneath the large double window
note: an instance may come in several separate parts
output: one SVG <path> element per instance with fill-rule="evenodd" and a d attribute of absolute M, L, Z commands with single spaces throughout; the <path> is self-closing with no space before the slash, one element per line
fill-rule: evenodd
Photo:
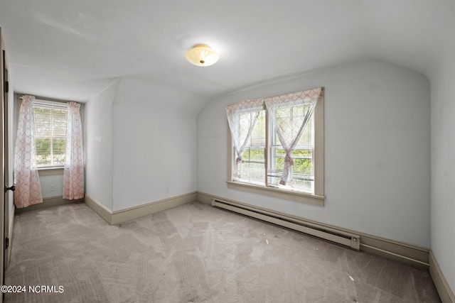
<path fill-rule="evenodd" d="M 252 185 L 241 182 L 226 181 L 228 187 L 231 189 L 243 190 L 245 192 L 252 192 L 255 194 L 266 194 L 270 197 L 279 199 L 287 199 L 295 202 L 302 202 L 306 204 L 313 204 L 324 206 L 324 199 L 326 197 L 317 194 L 306 194 L 304 192 L 291 192 L 289 190 L 277 189 L 273 187 L 262 187 L 259 185 Z"/>

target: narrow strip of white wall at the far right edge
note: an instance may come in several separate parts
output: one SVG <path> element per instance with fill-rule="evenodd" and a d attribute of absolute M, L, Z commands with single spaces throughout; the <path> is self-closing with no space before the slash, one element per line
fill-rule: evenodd
<path fill-rule="evenodd" d="M 432 250 L 455 292 L 455 60 L 438 72 L 432 77 Z"/>

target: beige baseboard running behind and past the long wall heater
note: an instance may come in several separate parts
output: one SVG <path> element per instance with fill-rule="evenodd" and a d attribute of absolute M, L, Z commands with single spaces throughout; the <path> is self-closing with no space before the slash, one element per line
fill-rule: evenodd
<path fill-rule="evenodd" d="M 213 194 L 207 194 L 205 192 L 197 192 L 196 199 L 198 202 L 203 202 L 205 204 L 212 205 L 212 199 L 222 199 L 228 202 L 235 204 L 242 204 L 247 206 L 249 209 L 258 211 L 263 214 L 273 213 L 278 214 L 279 216 L 288 216 L 295 217 L 300 221 L 306 221 L 309 224 L 315 224 L 317 226 L 323 226 L 328 230 L 335 230 L 341 233 L 355 233 L 360 236 L 360 250 L 363 250 L 368 253 L 373 253 L 375 255 L 381 255 L 385 258 L 396 260 L 401 263 L 405 263 L 412 266 L 417 266 L 419 268 L 429 268 L 429 250 L 427 248 L 421 248 L 418 246 L 412 246 L 406 243 L 400 243 L 397 241 L 392 241 L 387 238 L 381 238 L 378 236 L 373 236 L 368 233 L 361 233 L 359 231 L 353 231 L 347 228 L 341 228 L 338 226 L 333 226 L 329 224 L 323 224 L 317 221 L 312 221 L 304 219 L 301 217 L 291 216 L 289 214 L 284 214 L 279 211 L 274 211 L 271 209 L 265 209 L 262 207 L 254 206 L 252 204 L 245 204 L 242 202 L 237 202 L 232 199 L 226 199 L 225 197 L 218 197 Z"/>

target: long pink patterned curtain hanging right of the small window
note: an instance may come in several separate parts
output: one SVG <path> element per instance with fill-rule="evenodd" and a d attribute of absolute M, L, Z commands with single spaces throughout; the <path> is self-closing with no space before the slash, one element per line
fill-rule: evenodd
<path fill-rule="evenodd" d="M 65 170 L 63 172 L 63 199 L 84 197 L 84 153 L 80 104 L 68 102 Z"/>

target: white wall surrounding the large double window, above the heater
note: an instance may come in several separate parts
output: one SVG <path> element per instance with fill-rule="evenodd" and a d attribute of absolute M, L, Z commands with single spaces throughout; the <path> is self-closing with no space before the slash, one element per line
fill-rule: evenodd
<path fill-rule="evenodd" d="M 325 87 L 325 206 L 228 189 L 225 106 Z M 198 116 L 198 190 L 354 231 L 430 246 L 430 90 L 424 75 L 355 62 L 208 102 Z"/>

